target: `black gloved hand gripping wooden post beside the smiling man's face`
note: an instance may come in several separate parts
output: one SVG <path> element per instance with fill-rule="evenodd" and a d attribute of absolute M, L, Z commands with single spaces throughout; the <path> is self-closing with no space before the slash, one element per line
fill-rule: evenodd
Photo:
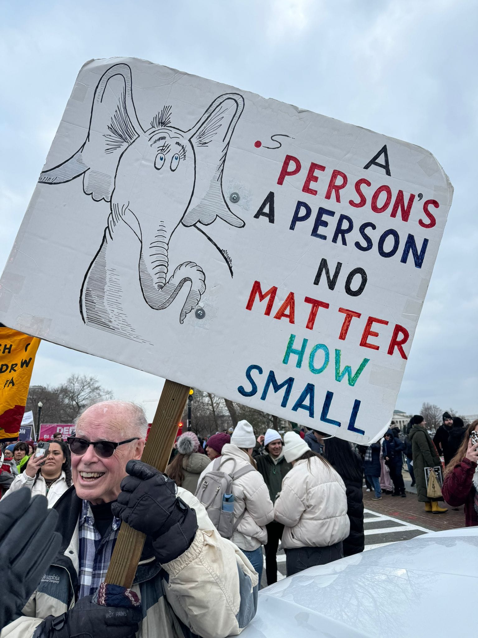
<path fill-rule="evenodd" d="M 112 505 L 114 516 L 152 538 L 157 560 L 169 563 L 191 545 L 198 529 L 196 512 L 176 496 L 173 480 L 142 461 L 128 461 L 130 475 Z"/>

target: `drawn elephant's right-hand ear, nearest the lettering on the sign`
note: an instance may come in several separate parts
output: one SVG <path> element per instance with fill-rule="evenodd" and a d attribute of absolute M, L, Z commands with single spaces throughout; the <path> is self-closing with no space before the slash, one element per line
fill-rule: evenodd
<path fill-rule="evenodd" d="M 185 133 L 194 147 L 196 161 L 194 191 L 182 219 L 185 226 L 192 226 L 198 221 L 209 225 L 217 217 L 237 228 L 244 225 L 229 208 L 222 191 L 222 172 L 229 142 L 243 108 L 242 95 L 221 95 L 207 108 L 196 126 Z"/>

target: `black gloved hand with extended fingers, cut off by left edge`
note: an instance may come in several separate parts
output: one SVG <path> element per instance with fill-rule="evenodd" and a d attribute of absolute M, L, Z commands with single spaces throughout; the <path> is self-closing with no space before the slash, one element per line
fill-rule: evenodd
<path fill-rule="evenodd" d="M 58 514 L 28 487 L 0 503 L 0 630 L 20 613 L 60 549 Z"/>

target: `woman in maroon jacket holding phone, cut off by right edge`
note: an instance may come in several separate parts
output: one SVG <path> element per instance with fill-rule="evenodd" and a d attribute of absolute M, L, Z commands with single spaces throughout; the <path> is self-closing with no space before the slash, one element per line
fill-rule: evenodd
<path fill-rule="evenodd" d="M 452 507 L 465 505 L 465 526 L 478 525 L 478 419 L 468 426 L 463 442 L 445 470 L 442 487 Z"/>

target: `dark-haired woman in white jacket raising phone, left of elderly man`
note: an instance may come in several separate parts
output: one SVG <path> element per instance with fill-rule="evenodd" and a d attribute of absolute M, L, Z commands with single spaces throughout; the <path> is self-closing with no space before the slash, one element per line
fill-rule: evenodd
<path fill-rule="evenodd" d="M 37 449 L 38 453 L 38 449 Z M 47 497 L 48 507 L 53 507 L 60 496 L 71 486 L 69 450 L 63 441 L 50 443 L 43 456 L 32 456 L 25 471 L 19 474 L 2 498 L 21 487 L 29 487 L 32 496 Z"/>

